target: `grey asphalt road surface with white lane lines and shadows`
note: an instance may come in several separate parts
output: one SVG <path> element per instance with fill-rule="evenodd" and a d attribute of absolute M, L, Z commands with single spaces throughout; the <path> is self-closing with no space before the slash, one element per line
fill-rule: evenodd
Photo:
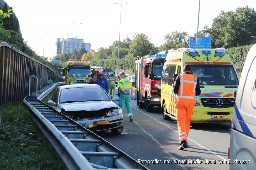
<path fill-rule="evenodd" d="M 116 94 L 117 89 L 115 96 Z M 127 110 L 124 109 L 124 134 L 113 136 L 110 131 L 106 131 L 100 135 L 136 160 L 159 161 L 150 164 L 141 162 L 147 168 L 151 170 L 229 169 L 229 164 L 226 162 L 230 138 L 229 124 L 193 125 L 187 140 L 189 148 L 180 151 L 177 150 L 179 136 L 175 120 L 164 120 L 160 107 L 154 107 L 153 113 L 148 113 L 145 109 L 139 109 L 136 101 L 131 101 L 131 106 L 134 121 L 129 121 Z M 206 160 L 209 162 L 205 162 Z"/>

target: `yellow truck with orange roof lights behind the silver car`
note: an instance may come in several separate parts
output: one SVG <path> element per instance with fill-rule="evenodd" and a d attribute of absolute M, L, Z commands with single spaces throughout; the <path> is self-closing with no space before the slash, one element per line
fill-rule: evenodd
<path fill-rule="evenodd" d="M 65 85 L 69 84 L 73 74 L 75 74 L 77 82 L 85 82 L 85 77 L 91 74 L 90 62 L 88 60 L 69 59 L 67 67 L 62 70 L 62 75 L 65 76 Z"/>

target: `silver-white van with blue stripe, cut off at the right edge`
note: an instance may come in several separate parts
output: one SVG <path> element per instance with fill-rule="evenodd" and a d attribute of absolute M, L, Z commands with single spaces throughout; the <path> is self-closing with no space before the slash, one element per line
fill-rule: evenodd
<path fill-rule="evenodd" d="M 256 44 L 248 52 L 234 98 L 229 169 L 256 169 Z"/>

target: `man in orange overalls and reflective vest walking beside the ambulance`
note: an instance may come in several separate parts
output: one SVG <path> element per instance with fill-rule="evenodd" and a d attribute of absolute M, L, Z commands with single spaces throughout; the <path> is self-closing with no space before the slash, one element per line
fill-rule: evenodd
<path fill-rule="evenodd" d="M 173 84 L 173 92 L 177 94 L 176 109 L 180 141 L 179 150 L 188 147 L 187 137 L 196 101 L 195 96 L 201 94 L 199 80 L 191 73 L 191 66 L 189 64 L 184 65 L 183 73 L 176 78 Z"/>

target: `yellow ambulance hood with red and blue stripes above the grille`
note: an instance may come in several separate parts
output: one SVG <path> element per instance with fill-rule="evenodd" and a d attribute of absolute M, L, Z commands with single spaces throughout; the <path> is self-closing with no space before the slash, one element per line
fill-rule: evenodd
<path fill-rule="evenodd" d="M 200 85 L 201 87 L 203 85 Z M 203 86 L 201 88 L 201 94 L 199 98 L 204 97 L 225 97 L 225 98 L 233 98 L 234 90 L 237 89 L 237 86 Z M 197 96 L 198 97 L 198 96 Z"/>

